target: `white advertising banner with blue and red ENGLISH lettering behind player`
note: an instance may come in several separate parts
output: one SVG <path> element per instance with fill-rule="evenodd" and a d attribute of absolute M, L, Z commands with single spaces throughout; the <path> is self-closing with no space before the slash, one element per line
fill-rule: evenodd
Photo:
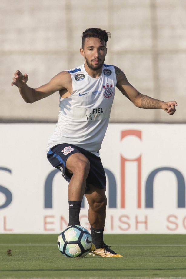
<path fill-rule="evenodd" d="M 58 234 L 68 183 L 46 157 L 55 124 L 0 124 L 0 233 Z M 107 177 L 105 233 L 186 232 L 186 125 L 110 123 L 100 157 Z M 80 221 L 89 229 L 88 203 Z"/>

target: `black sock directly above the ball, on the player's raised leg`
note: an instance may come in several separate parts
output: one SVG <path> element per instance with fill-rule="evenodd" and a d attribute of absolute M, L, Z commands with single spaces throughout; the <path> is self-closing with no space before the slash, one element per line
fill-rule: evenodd
<path fill-rule="evenodd" d="M 68 205 L 69 205 L 68 226 L 80 225 L 79 212 L 81 209 L 81 201 L 68 201 Z"/>

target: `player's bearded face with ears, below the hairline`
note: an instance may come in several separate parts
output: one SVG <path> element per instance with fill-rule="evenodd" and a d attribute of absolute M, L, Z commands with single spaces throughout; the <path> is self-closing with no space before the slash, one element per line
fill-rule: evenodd
<path fill-rule="evenodd" d="M 103 66 L 107 48 L 105 42 L 99 38 L 86 38 L 84 49 L 80 49 L 81 55 L 85 57 L 85 63 L 91 70 L 99 70 Z"/>

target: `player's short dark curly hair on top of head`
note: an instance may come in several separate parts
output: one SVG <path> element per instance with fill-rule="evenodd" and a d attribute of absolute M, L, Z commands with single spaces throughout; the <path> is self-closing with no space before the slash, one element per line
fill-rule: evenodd
<path fill-rule="evenodd" d="M 82 48 L 84 48 L 86 38 L 99 38 L 100 42 L 105 42 L 105 46 L 107 46 L 107 41 L 110 37 L 110 32 L 106 32 L 100 28 L 88 28 L 83 32 L 82 35 Z"/>

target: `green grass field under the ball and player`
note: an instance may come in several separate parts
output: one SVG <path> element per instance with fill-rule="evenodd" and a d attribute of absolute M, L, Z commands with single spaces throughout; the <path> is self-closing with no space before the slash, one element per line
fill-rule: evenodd
<path fill-rule="evenodd" d="M 186 279 L 185 235 L 105 235 L 122 258 L 66 258 L 57 237 L 0 234 L 0 278 Z"/>

